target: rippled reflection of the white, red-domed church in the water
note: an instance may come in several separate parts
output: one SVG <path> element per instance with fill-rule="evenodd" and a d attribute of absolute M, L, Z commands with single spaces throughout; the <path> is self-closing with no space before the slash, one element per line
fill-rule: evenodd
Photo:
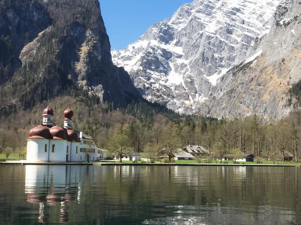
<path fill-rule="evenodd" d="M 26 165 L 25 193 L 27 202 L 39 205 L 38 220 L 63 223 L 69 221 L 70 201 L 80 203 L 82 172 L 87 167 Z M 59 215 L 51 208 L 59 207 Z"/>

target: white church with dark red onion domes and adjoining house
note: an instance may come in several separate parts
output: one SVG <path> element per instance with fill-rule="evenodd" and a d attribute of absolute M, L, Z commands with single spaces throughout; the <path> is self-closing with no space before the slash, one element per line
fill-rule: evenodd
<path fill-rule="evenodd" d="M 73 111 L 69 107 L 64 111 L 64 128 L 53 126 L 54 114 L 49 105 L 42 116 L 43 123 L 29 132 L 27 161 L 81 162 L 88 160 L 85 152 L 90 152 L 91 161 L 103 159 L 103 149 L 91 136 L 72 130 Z"/>

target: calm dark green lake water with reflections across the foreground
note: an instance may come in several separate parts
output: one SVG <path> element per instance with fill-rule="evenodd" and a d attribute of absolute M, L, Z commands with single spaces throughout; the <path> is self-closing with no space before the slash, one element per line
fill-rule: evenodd
<path fill-rule="evenodd" d="M 301 224 L 293 167 L 0 165 L 0 224 Z"/>

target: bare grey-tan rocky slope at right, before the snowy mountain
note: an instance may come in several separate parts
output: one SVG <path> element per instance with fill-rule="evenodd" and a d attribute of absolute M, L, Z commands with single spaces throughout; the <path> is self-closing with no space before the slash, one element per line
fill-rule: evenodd
<path fill-rule="evenodd" d="M 288 91 L 300 79 L 301 2 L 281 1 L 269 33 L 255 40 L 251 57 L 220 79 L 200 114 L 245 116 L 258 113 L 271 119 L 287 115 Z"/>

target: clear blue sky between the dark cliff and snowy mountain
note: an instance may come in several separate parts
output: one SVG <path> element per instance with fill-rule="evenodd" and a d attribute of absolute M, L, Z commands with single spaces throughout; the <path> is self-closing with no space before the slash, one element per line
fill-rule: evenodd
<path fill-rule="evenodd" d="M 150 25 L 171 17 L 193 0 L 99 0 L 112 49 L 136 41 Z"/>

